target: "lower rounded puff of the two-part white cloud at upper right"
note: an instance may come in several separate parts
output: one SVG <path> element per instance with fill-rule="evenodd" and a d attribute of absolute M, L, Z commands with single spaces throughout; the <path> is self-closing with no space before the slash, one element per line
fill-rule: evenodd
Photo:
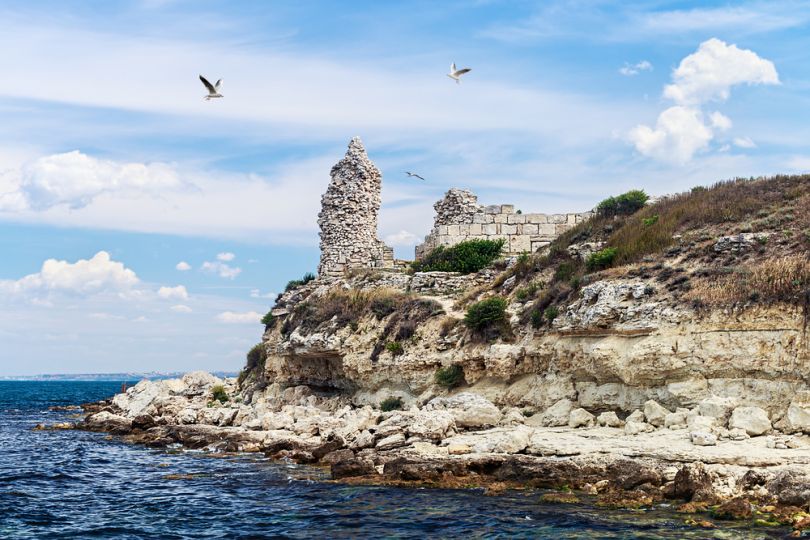
<path fill-rule="evenodd" d="M 640 125 L 629 134 L 639 153 L 673 163 L 689 161 L 695 152 L 708 146 L 712 137 L 699 110 L 679 106 L 662 112 L 655 129 Z"/>

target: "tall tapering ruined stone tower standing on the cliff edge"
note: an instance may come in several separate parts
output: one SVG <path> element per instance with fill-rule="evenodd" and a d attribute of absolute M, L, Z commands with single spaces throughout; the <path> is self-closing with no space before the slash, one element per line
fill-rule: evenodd
<path fill-rule="evenodd" d="M 332 167 L 332 181 L 321 199 L 321 277 L 353 268 L 393 266 L 394 251 L 377 238 L 382 174 L 368 159 L 359 137 Z"/>

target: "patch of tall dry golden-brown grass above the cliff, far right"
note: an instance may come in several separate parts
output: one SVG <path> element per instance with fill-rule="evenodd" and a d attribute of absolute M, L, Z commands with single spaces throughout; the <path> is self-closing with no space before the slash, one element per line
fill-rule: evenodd
<path fill-rule="evenodd" d="M 710 306 L 744 302 L 801 301 L 810 291 L 810 259 L 807 254 L 769 258 L 731 273 L 702 279 L 686 298 Z"/>

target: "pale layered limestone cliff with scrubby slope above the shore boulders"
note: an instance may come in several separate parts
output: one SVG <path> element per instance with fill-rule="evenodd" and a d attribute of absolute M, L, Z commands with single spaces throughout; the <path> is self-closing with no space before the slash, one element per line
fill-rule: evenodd
<path fill-rule="evenodd" d="M 421 404 L 443 391 L 434 384 L 436 370 L 458 365 L 464 390 L 532 412 L 566 399 L 626 415 L 649 399 L 674 410 L 717 396 L 760 407 L 775 426 L 799 430 L 786 415 L 810 391 L 801 295 L 810 287 L 810 240 L 802 237 L 805 218 L 788 225 L 784 215 L 810 206 L 807 182 L 777 186 L 795 193 L 785 200 L 777 193 L 776 202 L 746 208 L 735 220 L 676 225 L 662 249 L 603 271 L 576 273 L 583 258 L 636 221 L 652 229 L 659 215 L 664 221 L 670 211 L 683 214 L 675 203 L 697 203 L 665 200 L 640 217 L 595 219 L 545 254 L 475 275 L 370 272 L 319 280 L 280 298 L 277 309 L 287 315 L 264 335 L 264 377 L 331 388 L 357 404 L 391 396 Z M 740 233 L 756 216 L 760 231 Z M 789 268 L 775 269 L 784 261 Z M 573 277 L 560 279 L 569 267 Z M 768 292 L 779 279 L 799 294 Z M 757 290 L 742 291 L 740 283 Z M 735 288 L 742 292 L 730 301 Z M 461 319 L 472 301 L 491 296 L 508 300 L 508 329 L 483 340 Z M 388 307 L 375 310 L 375 302 Z M 414 302 L 433 307 L 414 311 Z"/>

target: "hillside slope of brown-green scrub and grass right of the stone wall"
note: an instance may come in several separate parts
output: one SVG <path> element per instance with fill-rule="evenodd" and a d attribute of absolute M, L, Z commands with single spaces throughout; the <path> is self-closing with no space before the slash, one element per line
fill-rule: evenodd
<path fill-rule="evenodd" d="M 518 261 L 495 287 L 510 276 L 527 283 L 515 287 L 514 298 L 526 302 L 524 322 L 535 327 L 600 272 L 618 277 L 620 267 L 695 305 L 810 302 L 810 176 L 735 179 L 643 201 L 640 191 L 602 201 L 592 219 Z M 747 232 L 770 236 L 752 249 L 714 249 L 720 236 Z M 586 242 L 603 245 L 585 260 L 569 253 Z"/>

